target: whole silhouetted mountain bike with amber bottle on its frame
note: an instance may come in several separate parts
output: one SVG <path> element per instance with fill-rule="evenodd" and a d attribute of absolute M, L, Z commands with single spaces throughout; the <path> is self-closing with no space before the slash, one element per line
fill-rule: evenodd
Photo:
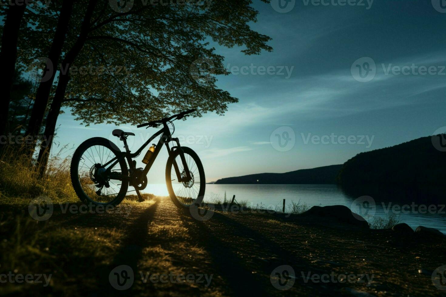
<path fill-rule="evenodd" d="M 192 149 L 181 146 L 178 138 L 172 137 L 175 131 L 173 121 L 194 111 L 187 110 L 168 118 L 138 125 L 138 128 L 162 128 L 135 153 L 131 153 L 127 144 L 128 136 L 135 134 L 120 129 L 113 130 L 112 134 L 124 142 L 125 152 L 120 151 L 116 144 L 106 138 L 94 137 L 84 141 L 74 152 L 70 168 L 71 182 L 79 199 L 95 205 L 116 206 L 124 199 L 130 186 L 135 188 L 132 191 L 136 191 L 139 201 L 144 201 L 140 191 L 147 187 L 147 174 L 163 145 L 169 153 L 165 179 L 170 199 L 179 208 L 190 207 L 196 199 L 202 199 L 206 179 L 201 160 Z M 169 126 L 172 126 L 172 132 Z M 145 168 L 136 168 L 136 160 L 133 159 L 159 135 L 161 138 L 158 144 L 153 144 L 145 155 Z M 176 142 L 176 145 L 170 147 L 169 142 Z"/>

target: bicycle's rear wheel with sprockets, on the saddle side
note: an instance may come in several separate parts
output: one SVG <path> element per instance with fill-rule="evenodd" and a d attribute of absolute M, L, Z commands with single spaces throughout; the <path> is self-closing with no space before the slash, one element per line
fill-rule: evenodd
<path fill-rule="evenodd" d="M 113 167 L 104 164 L 120 155 L 120 149 L 106 138 L 95 137 L 84 141 L 71 160 L 71 183 L 78 197 L 96 205 L 116 205 L 124 199 L 128 180 L 125 159 Z"/>

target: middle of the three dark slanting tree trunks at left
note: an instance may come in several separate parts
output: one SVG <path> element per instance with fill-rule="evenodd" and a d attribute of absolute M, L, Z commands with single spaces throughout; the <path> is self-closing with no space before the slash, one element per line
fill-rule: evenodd
<path fill-rule="evenodd" d="M 53 43 L 51 44 L 48 60 L 50 64 L 47 65 L 43 72 L 41 83 L 37 89 L 36 99 L 34 101 L 31 117 L 29 118 L 28 129 L 26 135 L 33 136 L 37 139 L 37 135 L 41 129 L 42 120 L 45 115 L 45 109 L 50 98 L 51 86 L 53 85 L 54 76 L 57 71 L 59 58 L 62 54 L 62 46 L 65 43 L 66 33 L 68 31 L 68 24 L 71 19 L 73 11 L 73 0 L 65 0 L 62 2 L 62 9 L 59 15 L 56 32 L 54 33 Z M 29 147 L 29 155 L 33 155 L 35 150 L 35 142 Z"/>

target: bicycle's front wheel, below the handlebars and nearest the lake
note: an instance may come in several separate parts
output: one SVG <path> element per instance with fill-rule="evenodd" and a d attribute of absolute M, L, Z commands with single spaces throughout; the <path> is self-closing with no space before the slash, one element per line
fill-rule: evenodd
<path fill-rule="evenodd" d="M 187 168 L 190 172 L 191 179 L 189 181 L 178 181 L 178 176 L 175 171 L 174 163 L 178 166 L 181 178 L 186 177 L 186 171 L 181 159 L 181 149 L 184 152 Z M 206 187 L 206 178 L 204 176 L 203 165 L 198 158 L 198 155 L 189 147 L 182 146 L 176 149 L 172 155 L 169 156 L 166 165 L 166 184 L 169 191 L 170 199 L 178 208 L 190 207 L 190 205 L 198 197 L 204 197 L 204 190 Z"/>

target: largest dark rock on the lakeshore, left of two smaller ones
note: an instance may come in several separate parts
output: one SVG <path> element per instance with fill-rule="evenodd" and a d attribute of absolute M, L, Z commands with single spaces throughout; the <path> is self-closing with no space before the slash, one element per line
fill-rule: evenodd
<path fill-rule="evenodd" d="M 351 212 L 350 208 L 344 205 L 313 206 L 306 212 L 306 216 L 321 216 L 328 219 L 335 219 L 338 222 L 347 223 L 363 228 L 370 228 L 367 221 L 362 216 Z"/>

